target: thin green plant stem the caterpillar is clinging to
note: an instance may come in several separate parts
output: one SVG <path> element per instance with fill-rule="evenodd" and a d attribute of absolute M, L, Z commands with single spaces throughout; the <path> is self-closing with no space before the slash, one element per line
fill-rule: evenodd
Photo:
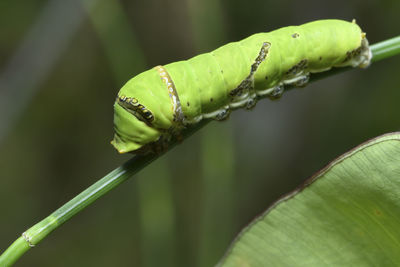
<path fill-rule="evenodd" d="M 373 62 L 400 54 L 400 36 L 372 45 L 371 51 L 373 54 Z M 341 69 L 346 70 L 352 68 Z M 336 69 L 325 72 L 323 77 L 330 76 L 335 73 L 337 73 Z M 315 75 L 311 77 L 310 81 L 315 81 L 320 78 L 321 77 L 318 75 Z M 208 122 L 209 120 L 204 120 L 192 127 L 189 127 L 183 132 L 183 137 L 188 137 L 192 133 L 202 128 Z M 171 149 L 177 143 L 177 140 L 173 140 L 169 149 Z M 60 225 L 76 215 L 82 209 L 89 206 L 96 199 L 105 195 L 111 189 L 129 179 L 133 174 L 140 171 L 142 168 L 159 158 L 161 155 L 162 154 L 150 154 L 145 156 L 136 155 L 122 166 L 107 174 L 105 177 L 77 195 L 71 201 L 67 202 L 61 208 L 50 214 L 50 216 L 24 232 L 22 236 L 12 243 L 11 246 L 8 247 L 7 250 L 4 251 L 0 256 L 0 266 L 11 266 L 26 251 L 37 245 L 53 230 L 57 229 Z"/>

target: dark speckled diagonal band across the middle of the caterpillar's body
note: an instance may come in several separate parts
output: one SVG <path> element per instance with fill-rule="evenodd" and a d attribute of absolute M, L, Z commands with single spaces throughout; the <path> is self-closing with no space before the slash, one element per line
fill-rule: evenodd
<path fill-rule="evenodd" d="M 254 83 L 254 73 L 257 71 L 261 62 L 265 60 L 268 55 L 269 48 L 271 47 L 271 43 L 264 42 L 260 52 L 258 53 L 257 58 L 254 60 L 254 63 L 250 66 L 250 74 L 235 88 L 233 89 L 229 95 L 232 97 L 241 96 L 244 91 L 248 91 L 253 88 Z"/>

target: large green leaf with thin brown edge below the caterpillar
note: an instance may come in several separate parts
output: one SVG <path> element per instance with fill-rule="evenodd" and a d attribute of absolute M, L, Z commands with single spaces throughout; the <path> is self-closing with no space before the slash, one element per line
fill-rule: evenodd
<path fill-rule="evenodd" d="M 400 133 L 356 147 L 280 199 L 220 265 L 400 265 Z"/>

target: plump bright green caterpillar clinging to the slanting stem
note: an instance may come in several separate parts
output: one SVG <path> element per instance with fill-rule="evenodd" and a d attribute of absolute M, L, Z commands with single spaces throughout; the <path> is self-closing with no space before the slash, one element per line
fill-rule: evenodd
<path fill-rule="evenodd" d="M 225 119 L 231 110 L 252 108 L 261 97 L 280 97 L 285 85 L 306 85 L 310 73 L 365 68 L 371 57 L 355 21 L 319 20 L 157 66 L 118 93 L 111 143 L 120 153 L 152 151 L 203 118 Z"/>

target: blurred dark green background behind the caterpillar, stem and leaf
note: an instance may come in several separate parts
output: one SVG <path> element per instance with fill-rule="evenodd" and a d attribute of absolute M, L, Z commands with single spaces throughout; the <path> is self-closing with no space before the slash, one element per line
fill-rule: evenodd
<path fill-rule="evenodd" d="M 253 33 L 357 19 L 399 34 L 400 1 L 0 2 L 0 250 L 130 155 L 110 145 L 134 75 Z M 400 60 L 212 122 L 24 255 L 16 266 L 212 266 L 274 200 L 335 156 L 400 126 Z"/>

